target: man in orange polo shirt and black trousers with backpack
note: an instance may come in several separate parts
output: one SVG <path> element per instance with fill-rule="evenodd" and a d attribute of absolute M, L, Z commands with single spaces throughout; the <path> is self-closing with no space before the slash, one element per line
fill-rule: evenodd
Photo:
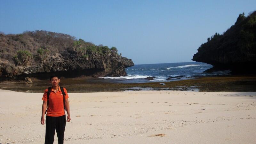
<path fill-rule="evenodd" d="M 60 78 L 56 75 L 50 77 L 52 87 L 49 100 L 47 99 L 48 89 L 45 89 L 43 95 L 43 105 L 42 105 L 42 117 L 41 124 L 44 125 L 44 114 L 46 114 L 46 130 L 45 130 L 45 144 L 53 144 L 55 130 L 58 136 L 59 144 L 63 144 L 64 140 L 64 131 L 66 126 L 66 115 L 64 111 L 64 105 L 68 113 L 67 122 L 70 122 L 70 113 L 69 113 L 69 102 L 68 102 L 68 93 L 66 88 L 63 88 L 64 93 L 62 94 L 61 88 L 59 86 Z M 63 96 L 65 95 L 65 96 Z M 64 98 L 64 100 L 63 100 Z M 48 101 L 48 105 L 47 105 Z M 47 108 L 47 111 L 46 111 Z"/>

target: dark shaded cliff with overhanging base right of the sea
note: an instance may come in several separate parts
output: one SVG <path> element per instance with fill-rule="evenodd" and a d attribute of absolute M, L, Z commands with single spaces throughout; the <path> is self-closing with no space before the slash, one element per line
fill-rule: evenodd
<path fill-rule="evenodd" d="M 207 72 L 256 73 L 256 11 L 247 17 L 240 14 L 235 25 L 208 38 L 197 50 L 192 60 L 213 65 Z"/>

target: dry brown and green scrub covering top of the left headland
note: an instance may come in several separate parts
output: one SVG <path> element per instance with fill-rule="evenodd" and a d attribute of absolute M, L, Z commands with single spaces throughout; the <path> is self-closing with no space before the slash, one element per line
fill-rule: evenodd
<path fill-rule="evenodd" d="M 35 62 L 46 63 L 50 56 L 58 56 L 60 52 L 72 51 L 77 57 L 93 58 L 116 55 L 117 49 L 95 45 L 77 40 L 68 34 L 49 31 L 26 31 L 22 34 L 0 34 L 0 56 L 16 65 L 29 65 Z M 34 55 L 34 56 L 33 56 Z"/>

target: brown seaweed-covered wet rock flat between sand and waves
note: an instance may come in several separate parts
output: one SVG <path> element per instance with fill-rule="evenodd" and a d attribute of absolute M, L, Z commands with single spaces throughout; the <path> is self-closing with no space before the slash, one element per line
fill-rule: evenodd
<path fill-rule="evenodd" d="M 79 77 L 60 78 L 60 85 L 66 87 L 69 93 L 113 92 L 138 90 L 181 90 L 208 92 L 255 92 L 255 75 L 199 77 L 190 80 L 147 82 L 147 83 L 110 83 L 100 78 Z M 32 84 L 0 83 L 0 89 L 18 92 L 42 93 L 50 85 L 49 80 L 35 80 Z"/>

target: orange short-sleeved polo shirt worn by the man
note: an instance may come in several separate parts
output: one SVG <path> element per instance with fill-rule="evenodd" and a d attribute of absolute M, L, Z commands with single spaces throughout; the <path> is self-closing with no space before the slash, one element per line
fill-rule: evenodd
<path fill-rule="evenodd" d="M 63 89 L 64 89 L 64 92 L 66 93 L 65 99 L 68 99 L 68 92 L 66 88 L 63 87 Z M 46 102 L 47 102 L 47 92 L 48 92 L 48 89 L 45 89 L 44 95 L 42 98 L 42 100 Z M 59 90 L 56 93 L 52 90 L 49 95 L 49 103 L 48 103 L 46 116 L 59 117 L 63 115 L 65 115 L 63 95 L 59 86 Z"/>

